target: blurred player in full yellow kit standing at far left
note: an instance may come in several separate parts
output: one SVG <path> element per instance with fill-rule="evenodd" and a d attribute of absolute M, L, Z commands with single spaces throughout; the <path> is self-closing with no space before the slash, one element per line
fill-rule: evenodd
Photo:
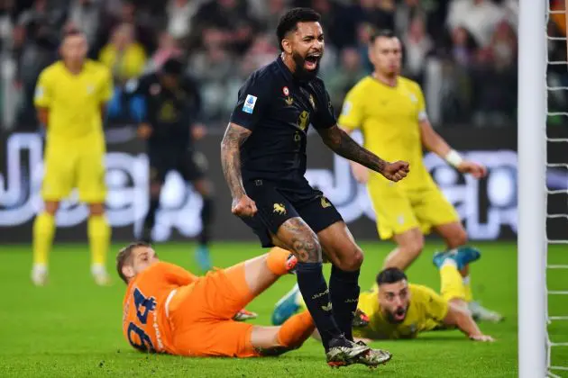
<path fill-rule="evenodd" d="M 111 229 L 105 219 L 105 103 L 113 94 L 108 69 L 88 60 L 87 40 L 68 31 L 61 41 L 60 61 L 46 67 L 36 86 L 34 103 L 46 128 L 44 210 L 33 222 L 32 282 L 45 284 L 48 257 L 60 201 L 77 187 L 89 207 L 87 233 L 91 273 L 96 284 L 107 284 L 106 253 Z"/>

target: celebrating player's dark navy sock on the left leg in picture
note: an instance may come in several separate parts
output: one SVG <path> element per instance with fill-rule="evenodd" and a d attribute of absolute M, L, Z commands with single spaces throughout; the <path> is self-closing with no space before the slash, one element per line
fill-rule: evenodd
<path fill-rule="evenodd" d="M 307 310 L 312 316 L 316 328 L 322 338 L 325 350 L 329 342 L 341 336 L 341 330 L 335 323 L 329 289 L 325 284 L 322 263 L 298 263 L 296 266 L 298 287 Z"/>

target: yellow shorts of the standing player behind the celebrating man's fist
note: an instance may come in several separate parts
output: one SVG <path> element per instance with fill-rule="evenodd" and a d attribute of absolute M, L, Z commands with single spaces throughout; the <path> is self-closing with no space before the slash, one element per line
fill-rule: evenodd
<path fill-rule="evenodd" d="M 371 181 L 367 189 L 381 239 L 416 228 L 428 234 L 435 226 L 460 221 L 457 211 L 435 186 L 409 191 L 394 183 Z"/>

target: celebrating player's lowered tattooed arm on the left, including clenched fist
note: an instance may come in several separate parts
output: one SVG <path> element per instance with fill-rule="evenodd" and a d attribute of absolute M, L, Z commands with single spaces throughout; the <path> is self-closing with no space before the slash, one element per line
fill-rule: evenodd
<path fill-rule="evenodd" d="M 252 216 L 256 212 L 255 203 L 244 192 L 241 175 L 241 146 L 251 133 L 243 126 L 229 123 L 221 141 L 221 165 L 233 197 L 231 211 L 239 216 Z"/>

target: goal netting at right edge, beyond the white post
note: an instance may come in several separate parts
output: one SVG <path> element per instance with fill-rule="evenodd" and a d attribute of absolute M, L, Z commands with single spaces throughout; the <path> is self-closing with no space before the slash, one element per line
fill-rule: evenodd
<path fill-rule="evenodd" d="M 546 3 L 546 368 L 568 377 L 568 0 Z"/>

